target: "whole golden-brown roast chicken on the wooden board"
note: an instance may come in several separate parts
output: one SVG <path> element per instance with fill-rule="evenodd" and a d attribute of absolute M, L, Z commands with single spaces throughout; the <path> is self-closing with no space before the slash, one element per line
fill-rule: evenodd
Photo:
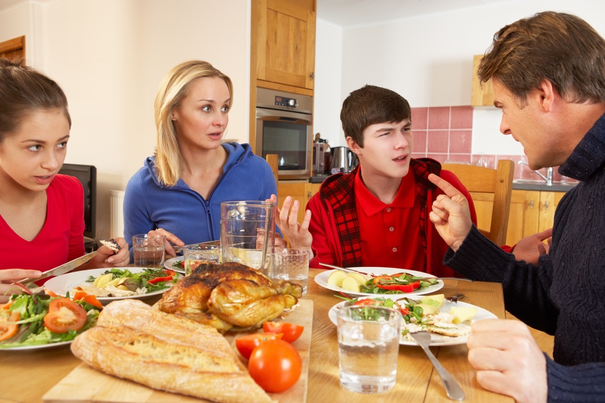
<path fill-rule="evenodd" d="M 240 263 L 206 263 L 164 292 L 158 308 L 226 332 L 260 327 L 296 305 L 301 296 L 300 285 L 273 283 Z"/>

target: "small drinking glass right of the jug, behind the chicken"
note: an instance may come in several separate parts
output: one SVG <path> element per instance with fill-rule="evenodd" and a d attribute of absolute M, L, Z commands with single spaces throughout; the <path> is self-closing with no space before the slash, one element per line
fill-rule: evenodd
<path fill-rule="evenodd" d="M 306 294 L 309 281 L 309 250 L 298 248 L 275 250 L 267 277 L 271 280 L 298 284 L 302 287 L 302 295 Z"/>

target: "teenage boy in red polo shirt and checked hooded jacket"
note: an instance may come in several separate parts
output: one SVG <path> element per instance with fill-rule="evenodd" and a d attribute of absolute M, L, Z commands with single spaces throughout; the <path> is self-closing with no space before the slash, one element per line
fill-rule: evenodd
<path fill-rule="evenodd" d="M 456 274 L 442 260 L 448 245 L 428 219 L 443 192 L 428 175 L 435 173 L 471 198 L 456 176 L 430 158 L 411 158 L 411 110 L 394 91 L 373 85 L 351 92 L 342 104 L 342 129 L 359 166 L 325 179 L 296 223 L 298 204 L 286 198 L 277 224 L 292 247 L 311 248 L 319 262 L 343 267 L 384 266 Z M 311 219 L 313 217 L 313 219 Z M 307 231 L 308 228 L 308 231 Z"/>

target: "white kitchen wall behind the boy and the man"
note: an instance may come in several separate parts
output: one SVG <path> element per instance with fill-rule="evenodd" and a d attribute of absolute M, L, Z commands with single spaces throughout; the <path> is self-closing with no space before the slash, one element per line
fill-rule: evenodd
<path fill-rule="evenodd" d="M 393 89 L 407 98 L 413 107 L 470 105 L 473 55 L 485 53 L 495 31 L 504 25 L 544 10 L 574 13 L 605 36 L 604 2 L 523 0 L 348 28 L 336 34 L 333 33 L 335 29 L 323 29 L 327 23 L 318 20 L 316 57 L 336 53 L 333 47 L 342 40 L 339 105 L 349 92 L 365 84 Z M 318 60 L 317 83 L 322 76 L 335 80 L 332 69 L 327 69 Z M 337 91 L 336 87 L 332 84 L 332 91 Z M 339 122 L 339 113 L 333 112 L 333 105 L 327 105 L 328 102 L 335 102 L 334 94 L 316 97 L 314 131 L 322 135 L 325 131 L 330 144 L 344 145 L 342 129 L 338 135 L 333 135 L 332 129 L 326 129 Z M 475 109 L 473 153 L 523 153 L 522 147 L 510 136 L 499 133 L 499 125 L 500 111 Z"/>

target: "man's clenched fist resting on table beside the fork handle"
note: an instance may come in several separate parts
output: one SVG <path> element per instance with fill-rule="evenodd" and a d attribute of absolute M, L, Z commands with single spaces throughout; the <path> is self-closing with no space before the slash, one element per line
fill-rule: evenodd
<path fill-rule="evenodd" d="M 477 382 L 517 403 L 546 402 L 546 358 L 528 327 L 518 320 L 477 321 L 466 341 Z"/>

